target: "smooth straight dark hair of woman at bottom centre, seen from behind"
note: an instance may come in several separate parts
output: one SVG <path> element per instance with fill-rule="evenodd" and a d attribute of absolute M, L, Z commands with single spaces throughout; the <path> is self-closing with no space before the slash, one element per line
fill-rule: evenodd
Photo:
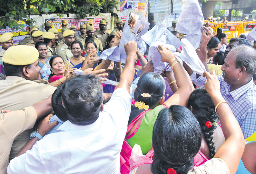
<path fill-rule="evenodd" d="M 199 123 L 189 109 L 180 105 L 162 109 L 153 127 L 155 157 L 151 171 L 165 174 L 173 168 L 178 174 L 186 174 L 194 165 L 201 142 Z"/>

